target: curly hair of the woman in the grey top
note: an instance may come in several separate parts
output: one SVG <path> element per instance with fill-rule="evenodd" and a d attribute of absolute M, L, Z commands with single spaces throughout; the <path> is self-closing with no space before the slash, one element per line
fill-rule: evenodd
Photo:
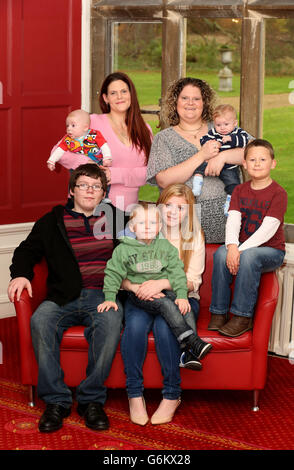
<path fill-rule="evenodd" d="M 171 83 L 162 103 L 160 113 L 161 120 L 168 122 L 170 126 L 179 124 L 180 118 L 177 113 L 177 102 L 181 91 L 187 85 L 199 88 L 203 100 L 202 119 L 206 122 L 212 121 L 212 112 L 215 102 L 214 90 L 204 80 L 186 77 Z"/>

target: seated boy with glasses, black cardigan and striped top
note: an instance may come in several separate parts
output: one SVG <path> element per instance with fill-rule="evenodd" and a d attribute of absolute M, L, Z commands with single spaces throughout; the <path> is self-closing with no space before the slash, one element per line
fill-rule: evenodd
<path fill-rule="evenodd" d="M 30 296 L 34 265 L 45 257 L 48 264 L 47 298 L 31 319 L 32 341 L 39 367 L 38 395 L 46 403 L 39 421 L 41 432 L 57 431 L 69 416 L 72 394 L 63 381 L 59 345 L 63 332 L 85 325 L 89 362 L 85 380 L 77 388 L 77 411 L 93 430 L 109 427 L 103 410 L 104 382 L 110 372 L 120 338 L 123 311 L 97 314 L 104 301 L 104 268 L 123 230 L 125 215 L 102 203 L 106 176 L 91 163 L 74 170 L 69 182 L 72 208 L 56 206 L 41 217 L 31 233 L 16 248 L 10 267 L 8 296 L 19 300 L 23 289 Z"/>

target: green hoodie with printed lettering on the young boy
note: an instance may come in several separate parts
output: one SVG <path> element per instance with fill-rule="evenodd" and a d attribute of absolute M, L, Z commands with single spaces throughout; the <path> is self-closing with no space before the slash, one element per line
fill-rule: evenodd
<path fill-rule="evenodd" d="M 104 271 L 105 300 L 115 302 L 123 279 L 134 284 L 168 279 L 178 299 L 187 299 L 187 278 L 178 250 L 162 235 L 147 245 L 122 237 Z"/>

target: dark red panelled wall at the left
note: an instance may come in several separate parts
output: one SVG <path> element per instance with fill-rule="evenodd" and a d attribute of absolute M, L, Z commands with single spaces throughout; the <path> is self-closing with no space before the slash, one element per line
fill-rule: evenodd
<path fill-rule="evenodd" d="M 46 160 L 81 107 L 81 0 L 1 0 L 0 51 L 0 224 L 30 222 L 67 197 Z"/>

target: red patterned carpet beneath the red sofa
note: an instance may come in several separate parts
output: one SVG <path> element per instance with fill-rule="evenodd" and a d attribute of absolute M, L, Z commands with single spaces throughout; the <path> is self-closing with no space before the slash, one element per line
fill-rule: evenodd
<path fill-rule="evenodd" d="M 0 364 L 0 450 L 294 450 L 294 365 L 278 357 L 269 357 L 259 412 L 251 410 L 252 392 L 183 391 L 172 423 L 141 427 L 129 420 L 125 390 L 109 390 L 105 406 L 109 430 L 86 428 L 75 405 L 61 430 L 41 434 L 38 420 L 44 403 L 37 400 L 34 408 L 27 405 L 27 389 L 19 377 L 15 320 L 1 320 L 0 326 L 4 359 Z M 145 399 L 151 416 L 160 391 L 146 390 Z"/>

